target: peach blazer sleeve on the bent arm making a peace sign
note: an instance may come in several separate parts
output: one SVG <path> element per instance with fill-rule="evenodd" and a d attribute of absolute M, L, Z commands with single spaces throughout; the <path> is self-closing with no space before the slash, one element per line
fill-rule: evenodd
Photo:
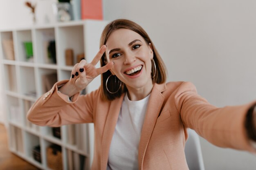
<path fill-rule="evenodd" d="M 87 95 L 76 93 L 72 102 L 69 102 L 67 95 L 58 92 L 58 86 L 67 81 L 57 82 L 49 92 L 37 99 L 29 109 L 27 119 L 39 126 L 52 127 L 92 123 L 94 97 L 99 93 L 99 90 Z"/>

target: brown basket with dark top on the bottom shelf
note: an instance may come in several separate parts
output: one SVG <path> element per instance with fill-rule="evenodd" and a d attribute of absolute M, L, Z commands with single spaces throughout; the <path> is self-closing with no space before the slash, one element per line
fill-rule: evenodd
<path fill-rule="evenodd" d="M 63 170 L 61 146 L 52 144 L 47 147 L 47 166 L 52 170 Z"/>

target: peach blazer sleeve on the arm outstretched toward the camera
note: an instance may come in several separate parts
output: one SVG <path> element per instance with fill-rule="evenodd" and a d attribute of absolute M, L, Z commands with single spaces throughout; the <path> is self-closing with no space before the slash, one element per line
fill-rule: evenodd
<path fill-rule="evenodd" d="M 175 105 L 185 127 L 223 148 L 255 152 L 247 137 L 245 119 L 256 102 L 217 108 L 197 94 L 195 86 L 184 82 L 175 93 Z"/>

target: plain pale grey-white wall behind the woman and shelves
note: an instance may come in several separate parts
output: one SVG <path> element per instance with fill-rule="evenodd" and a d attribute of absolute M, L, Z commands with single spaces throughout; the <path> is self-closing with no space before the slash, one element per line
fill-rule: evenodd
<path fill-rule="evenodd" d="M 0 28 L 32 23 L 20 1 L 1 0 Z M 54 20 L 52 0 L 37 2 L 43 4 L 38 11 L 49 11 Z M 17 3 L 15 15 L 9 9 Z M 144 27 L 166 63 L 168 81 L 193 82 L 219 107 L 256 98 L 255 7 L 255 0 L 103 0 L 104 19 L 127 18 Z M 37 16 L 43 23 L 45 14 Z M 256 167 L 255 156 L 247 152 L 218 148 L 204 139 L 201 144 L 206 170 Z"/>

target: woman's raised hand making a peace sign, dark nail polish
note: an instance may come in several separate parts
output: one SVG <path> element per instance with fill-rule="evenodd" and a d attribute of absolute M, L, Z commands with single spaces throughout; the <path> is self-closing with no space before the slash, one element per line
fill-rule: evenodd
<path fill-rule="evenodd" d="M 109 62 L 100 68 L 95 67 L 103 53 L 106 51 L 106 48 L 106 45 L 101 46 L 99 52 L 91 63 L 86 62 L 86 60 L 81 60 L 81 62 L 75 64 L 72 69 L 70 81 L 59 88 L 59 91 L 71 97 L 83 90 L 95 77 L 112 68 L 114 62 Z"/>

